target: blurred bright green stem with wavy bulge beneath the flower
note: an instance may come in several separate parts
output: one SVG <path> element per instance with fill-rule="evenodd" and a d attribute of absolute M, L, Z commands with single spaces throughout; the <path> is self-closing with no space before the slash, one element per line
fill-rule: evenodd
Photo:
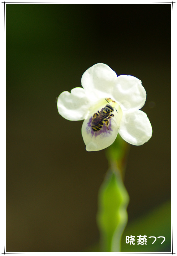
<path fill-rule="evenodd" d="M 123 184 L 129 146 L 120 137 L 106 152 L 110 169 L 98 196 L 97 223 L 101 236 L 101 251 L 120 251 L 120 241 L 127 223 L 128 193 Z"/>

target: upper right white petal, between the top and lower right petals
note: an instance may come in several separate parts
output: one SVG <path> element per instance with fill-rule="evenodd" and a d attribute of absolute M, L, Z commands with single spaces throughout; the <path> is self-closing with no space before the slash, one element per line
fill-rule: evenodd
<path fill-rule="evenodd" d="M 138 110 L 144 106 L 146 101 L 145 88 L 142 86 L 141 80 L 134 76 L 118 76 L 113 95 L 124 110 Z"/>

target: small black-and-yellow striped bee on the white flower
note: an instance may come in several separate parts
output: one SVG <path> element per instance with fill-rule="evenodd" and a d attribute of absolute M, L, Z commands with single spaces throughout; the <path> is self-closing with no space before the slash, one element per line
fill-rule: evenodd
<path fill-rule="evenodd" d="M 107 102 L 109 103 L 109 101 Z M 103 124 L 106 124 L 106 127 L 109 130 L 108 128 L 110 123 L 109 119 L 114 116 L 114 114 L 111 114 L 111 112 L 113 111 L 114 111 L 114 107 L 112 107 L 110 103 L 109 105 L 107 104 L 105 107 L 103 107 L 101 111 L 97 111 L 97 113 L 95 113 L 92 118 L 92 122 L 91 122 L 92 130 L 94 132 L 101 130 L 101 128 L 103 127 Z"/>

